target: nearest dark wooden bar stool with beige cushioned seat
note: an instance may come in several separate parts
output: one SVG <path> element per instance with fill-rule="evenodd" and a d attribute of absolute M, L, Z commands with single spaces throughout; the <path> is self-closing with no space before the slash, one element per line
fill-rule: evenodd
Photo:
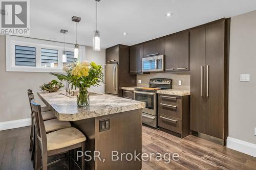
<path fill-rule="evenodd" d="M 33 120 L 35 123 L 35 169 L 46 170 L 48 157 L 69 152 L 73 149 L 81 148 L 85 152 L 86 136 L 76 128 L 65 128 L 51 133 L 46 133 L 44 120 L 41 115 L 41 107 L 34 100 L 31 101 Z M 70 156 L 71 158 L 71 156 Z M 61 160 L 61 159 L 60 159 Z M 54 163 L 57 161 L 54 161 Z M 84 169 L 84 155 L 82 156 L 81 169 Z"/>

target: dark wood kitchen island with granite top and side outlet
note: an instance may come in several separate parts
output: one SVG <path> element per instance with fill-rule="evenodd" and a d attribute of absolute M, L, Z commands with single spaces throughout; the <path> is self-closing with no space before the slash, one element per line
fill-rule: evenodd
<path fill-rule="evenodd" d="M 86 150 L 91 151 L 88 155 L 100 153 L 95 161 L 86 161 L 87 169 L 141 169 L 141 160 L 128 161 L 123 156 L 121 161 L 121 153 L 142 152 L 141 112 L 145 103 L 99 94 L 90 96 L 90 106 L 77 107 L 77 98 L 61 92 L 64 91 L 38 91 L 37 94 L 59 120 L 70 121 L 86 135 Z M 97 151 L 95 155 L 94 151 Z M 112 161 L 112 151 L 115 155 L 118 153 L 119 160 Z"/>

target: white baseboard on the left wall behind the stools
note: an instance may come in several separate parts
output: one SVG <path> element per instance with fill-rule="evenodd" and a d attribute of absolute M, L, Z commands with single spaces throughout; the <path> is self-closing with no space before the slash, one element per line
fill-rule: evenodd
<path fill-rule="evenodd" d="M 20 128 L 20 127 L 25 127 L 30 125 L 31 125 L 31 118 L 0 122 L 0 131 L 7 130 L 7 129 Z"/>

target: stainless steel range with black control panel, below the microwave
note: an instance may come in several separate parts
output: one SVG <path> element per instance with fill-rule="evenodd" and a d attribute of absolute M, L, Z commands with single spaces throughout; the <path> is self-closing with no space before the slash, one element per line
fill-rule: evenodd
<path fill-rule="evenodd" d="M 150 87 L 135 88 L 134 99 L 146 103 L 142 123 L 157 127 L 157 90 L 172 89 L 172 79 L 150 79 Z"/>

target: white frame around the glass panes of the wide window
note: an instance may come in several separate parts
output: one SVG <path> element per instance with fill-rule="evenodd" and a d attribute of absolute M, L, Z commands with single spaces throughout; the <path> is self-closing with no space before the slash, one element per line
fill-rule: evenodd
<path fill-rule="evenodd" d="M 35 67 L 15 65 L 15 45 L 31 46 L 36 48 L 36 66 Z M 41 48 L 58 50 L 58 68 L 41 66 Z M 73 52 L 74 45 L 66 43 L 65 50 Z M 62 71 L 62 66 L 63 66 L 62 51 L 63 51 L 62 42 L 6 35 L 6 71 L 63 72 Z M 79 45 L 79 60 L 84 61 L 85 58 L 86 58 L 86 46 Z"/>

